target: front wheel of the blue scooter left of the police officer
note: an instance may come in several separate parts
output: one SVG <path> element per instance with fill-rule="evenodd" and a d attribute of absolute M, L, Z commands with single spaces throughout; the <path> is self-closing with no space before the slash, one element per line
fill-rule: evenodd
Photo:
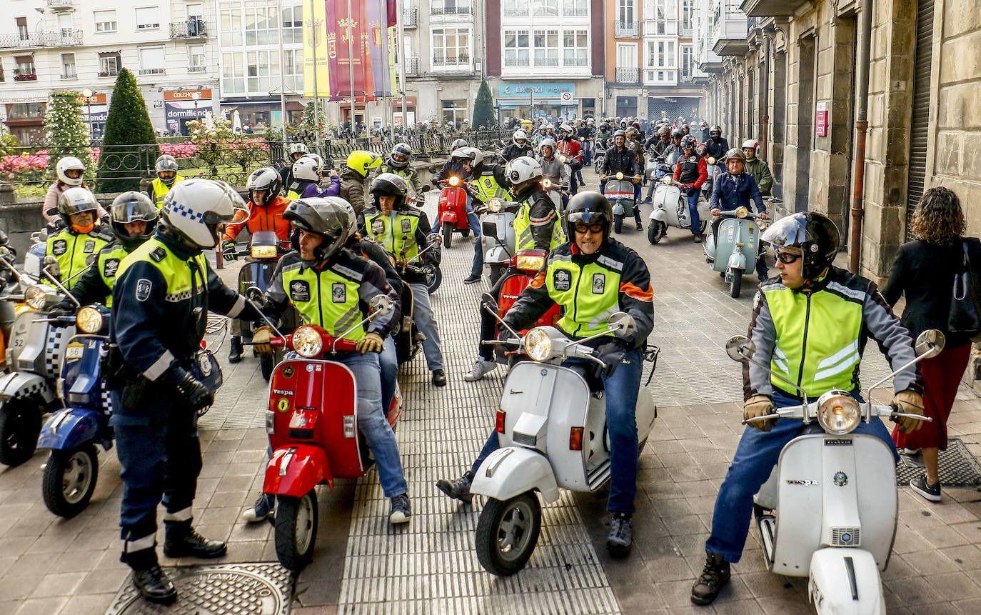
<path fill-rule="evenodd" d="M 59 517 L 71 519 L 88 506 L 98 480 L 99 456 L 92 444 L 52 450 L 41 482 L 44 505 Z"/>

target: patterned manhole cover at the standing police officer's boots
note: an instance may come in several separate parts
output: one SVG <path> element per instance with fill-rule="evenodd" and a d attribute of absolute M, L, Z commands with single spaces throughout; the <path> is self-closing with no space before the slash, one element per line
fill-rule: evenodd
<path fill-rule="evenodd" d="M 173 606 L 143 600 L 127 578 L 106 615 L 285 615 L 289 612 L 293 578 L 279 564 L 225 564 L 166 570 L 178 589 L 178 601 Z"/>

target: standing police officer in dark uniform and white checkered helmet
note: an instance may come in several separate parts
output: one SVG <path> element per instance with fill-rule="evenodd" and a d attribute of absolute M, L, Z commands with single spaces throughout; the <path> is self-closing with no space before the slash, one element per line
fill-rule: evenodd
<path fill-rule="evenodd" d="M 109 386 L 125 486 L 122 560 L 148 600 L 173 602 L 177 590 L 157 563 L 157 505 L 163 498 L 168 557 L 221 557 L 224 542 L 191 527 L 201 470 L 197 412 L 214 393 L 192 374 L 208 311 L 256 320 L 245 299 L 222 283 L 202 253 L 218 227 L 245 205 L 223 181 L 187 179 L 164 200 L 154 236 L 132 251 L 113 285 Z"/>

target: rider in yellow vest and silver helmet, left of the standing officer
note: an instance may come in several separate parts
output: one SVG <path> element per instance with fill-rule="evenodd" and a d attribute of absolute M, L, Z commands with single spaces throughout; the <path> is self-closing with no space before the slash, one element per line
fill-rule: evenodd
<path fill-rule="evenodd" d="M 77 186 L 58 197 L 58 215 L 65 228 L 48 237 L 46 256 L 58 259 L 59 282 L 71 289 L 78 274 L 91 264 L 96 253 L 112 240 L 95 219 L 99 203 L 87 188 Z"/>

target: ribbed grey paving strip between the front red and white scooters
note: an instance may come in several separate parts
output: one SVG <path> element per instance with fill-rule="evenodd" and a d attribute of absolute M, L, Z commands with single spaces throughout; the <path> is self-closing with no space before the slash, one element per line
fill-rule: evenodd
<path fill-rule="evenodd" d="M 431 214 L 432 218 L 432 214 Z M 442 252 L 443 282 L 432 295 L 449 383 L 432 386 L 420 352 L 402 367 L 404 406 L 395 436 L 409 484 L 412 519 L 388 524 L 388 500 L 371 471 L 358 481 L 339 596 L 341 613 L 618 613 L 571 493 L 542 509 L 542 536 L 528 567 L 506 579 L 487 573 L 474 550 L 480 499 L 462 505 L 435 483 L 456 478 L 493 426 L 503 368 L 477 383 L 463 375 L 477 357 L 480 294 L 464 285 L 473 239 L 454 236 Z"/>

